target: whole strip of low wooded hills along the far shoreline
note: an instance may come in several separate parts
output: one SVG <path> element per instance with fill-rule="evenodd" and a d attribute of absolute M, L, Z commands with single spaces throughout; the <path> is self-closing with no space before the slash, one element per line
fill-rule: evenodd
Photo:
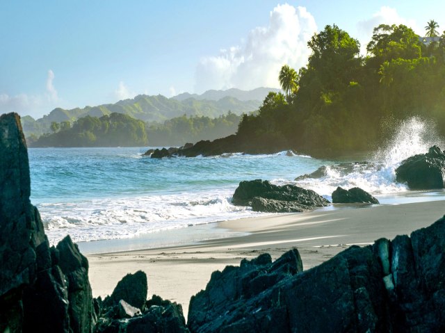
<path fill-rule="evenodd" d="M 163 124 L 147 124 L 122 113 L 51 122 L 52 133 L 29 137 L 30 147 L 181 146 L 215 140 L 236 132 L 241 116 L 230 112 L 217 118 L 175 117 Z M 148 138 L 148 140 L 147 140 Z"/>

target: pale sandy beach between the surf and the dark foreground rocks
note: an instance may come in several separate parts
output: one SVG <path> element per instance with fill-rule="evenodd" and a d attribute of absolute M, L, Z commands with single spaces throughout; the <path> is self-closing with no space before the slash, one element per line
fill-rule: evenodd
<path fill-rule="evenodd" d="M 214 270 L 239 265 L 241 259 L 252 259 L 264 252 L 276 259 L 293 247 L 298 248 L 307 270 L 350 245 L 368 245 L 378 238 L 391 239 L 427 227 L 444 215 L 444 204 L 445 201 L 337 205 L 335 209 L 309 213 L 230 220 L 203 227 L 207 232 L 227 232 L 226 238 L 88 254 L 92 293 L 95 297 L 104 297 L 124 275 L 143 270 L 148 277 L 149 297 L 156 294 L 182 304 L 186 316 L 191 296 L 205 288 Z M 162 233 L 167 239 L 172 234 L 175 239 L 188 240 L 197 229 L 189 227 Z"/>

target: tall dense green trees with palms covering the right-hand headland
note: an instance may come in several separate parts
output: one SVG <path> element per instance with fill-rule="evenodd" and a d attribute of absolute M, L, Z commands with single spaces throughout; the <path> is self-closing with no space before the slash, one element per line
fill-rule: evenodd
<path fill-rule="evenodd" d="M 414 115 L 445 135 L 445 38 L 432 27 L 425 44 L 407 26 L 382 24 L 362 57 L 357 40 L 326 26 L 308 43 L 307 67 L 282 68 L 286 95 L 270 92 L 259 113 L 243 116 L 238 140 L 324 156 L 364 152 Z"/>

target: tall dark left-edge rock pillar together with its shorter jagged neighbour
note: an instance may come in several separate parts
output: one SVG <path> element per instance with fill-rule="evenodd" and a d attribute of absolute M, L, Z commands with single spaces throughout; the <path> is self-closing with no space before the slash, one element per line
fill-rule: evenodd
<path fill-rule="evenodd" d="M 71 240 L 49 248 L 19 116 L 1 115 L 0 129 L 0 332 L 92 332 L 88 261 Z"/>

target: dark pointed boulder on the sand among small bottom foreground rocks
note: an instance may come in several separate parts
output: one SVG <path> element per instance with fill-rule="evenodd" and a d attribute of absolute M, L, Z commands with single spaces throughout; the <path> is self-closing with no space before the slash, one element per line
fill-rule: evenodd
<path fill-rule="evenodd" d="M 147 288 L 147 275 L 142 270 L 127 274 L 118 282 L 111 296 L 104 299 L 104 307 L 118 305 L 120 300 L 124 300 L 143 310 L 147 300 Z"/>

